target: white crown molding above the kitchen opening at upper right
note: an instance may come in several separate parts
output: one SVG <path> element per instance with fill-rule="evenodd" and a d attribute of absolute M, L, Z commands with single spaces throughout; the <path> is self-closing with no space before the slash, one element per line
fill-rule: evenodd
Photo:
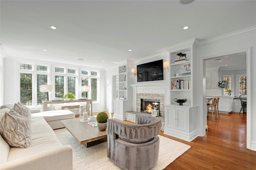
<path fill-rule="evenodd" d="M 256 32 L 256 26 L 251 26 L 251 27 L 248 27 L 248 28 L 244 28 L 242 30 L 237 30 L 237 31 L 234 31 L 234 32 L 230 32 L 230 33 L 227 33 L 227 34 L 223 34 L 221 36 L 217 36 L 217 37 L 214 37 L 214 38 L 209 38 L 207 40 L 202 40 L 198 43 L 198 46 L 202 46 L 202 45 L 206 45 L 206 44 L 209 44 L 209 43 L 214 43 L 214 42 L 226 40 L 226 39 L 229 39 L 229 38 L 234 38 L 234 37 L 241 36 L 241 35 L 244 35 L 244 34 L 250 34 L 252 32 Z"/>

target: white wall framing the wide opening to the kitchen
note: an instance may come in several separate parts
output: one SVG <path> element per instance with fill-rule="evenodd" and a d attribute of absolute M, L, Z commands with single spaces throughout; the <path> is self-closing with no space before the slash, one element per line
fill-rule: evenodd
<path fill-rule="evenodd" d="M 250 54 L 247 57 L 247 76 L 248 76 L 248 108 L 247 108 L 247 148 L 256 150 L 256 27 L 248 28 L 247 30 L 241 30 L 240 32 L 233 32 L 208 40 L 205 42 L 200 42 L 202 45 L 198 46 L 198 76 L 200 77 L 198 84 L 198 93 L 205 96 L 205 71 L 203 70 L 204 59 L 209 59 L 211 57 L 222 56 L 225 54 L 238 53 L 240 51 L 248 51 Z M 202 107 L 204 105 L 203 99 L 198 99 L 200 101 L 200 117 L 204 117 L 206 111 Z M 200 125 L 200 134 L 203 136 L 205 134 L 206 117 L 202 120 L 203 123 Z"/>

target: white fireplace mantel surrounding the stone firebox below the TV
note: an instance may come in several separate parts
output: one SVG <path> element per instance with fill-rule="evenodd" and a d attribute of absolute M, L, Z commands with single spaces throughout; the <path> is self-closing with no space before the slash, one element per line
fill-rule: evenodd
<path fill-rule="evenodd" d="M 170 103 L 169 85 L 166 83 L 141 83 L 132 84 L 130 86 L 133 89 L 133 111 L 137 111 L 137 93 L 164 94 L 165 104 Z"/>

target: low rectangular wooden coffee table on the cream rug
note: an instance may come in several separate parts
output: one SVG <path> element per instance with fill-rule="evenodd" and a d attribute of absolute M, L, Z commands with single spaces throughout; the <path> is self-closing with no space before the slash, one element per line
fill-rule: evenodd
<path fill-rule="evenodd" d="M 94 117 L 92 117 L 92 119 L 93 118 Z M 86 148 L 107 141 L 106 130 L 100 131 L 97 127 L 89 125 L 88 122 L 80 122 L 79 118 L 66 119 L 61 122 L 72 136 L 74 136 L 80 144 L 84 144 Z"/>

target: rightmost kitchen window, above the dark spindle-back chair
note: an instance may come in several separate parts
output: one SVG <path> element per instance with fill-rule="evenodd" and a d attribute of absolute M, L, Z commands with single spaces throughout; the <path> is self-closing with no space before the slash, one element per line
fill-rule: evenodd
<path fill-rule="evenodd" d="M 237 96 L 247 94 L 247 77 L 246 74 L 236 75 L 236 90 Z"/>

